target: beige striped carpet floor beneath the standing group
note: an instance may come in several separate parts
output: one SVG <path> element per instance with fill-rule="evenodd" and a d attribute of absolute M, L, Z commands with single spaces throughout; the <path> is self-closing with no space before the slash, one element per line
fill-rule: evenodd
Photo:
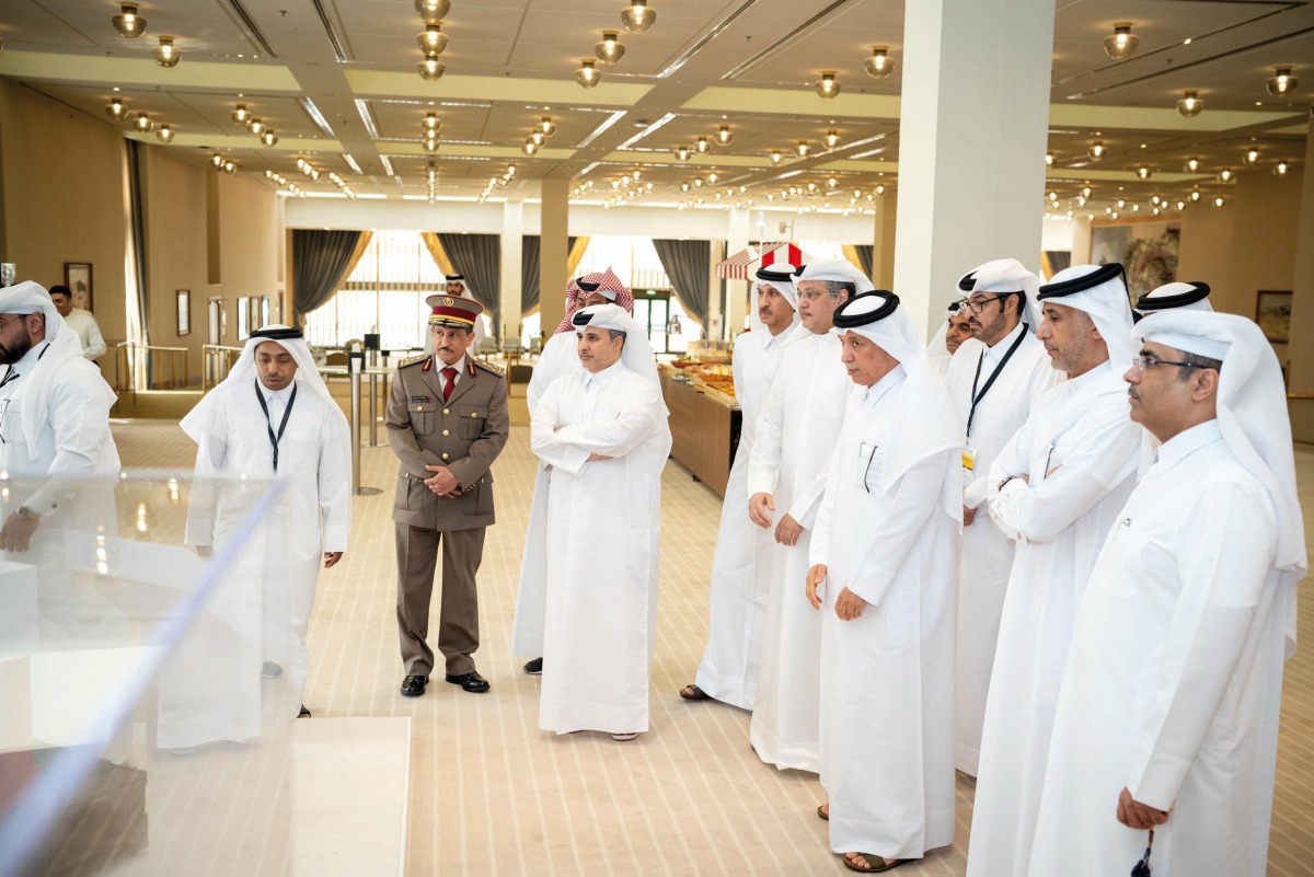
<path fill-rule="evenodd" d="M 522 390 L 523 394 L 523 390 Z M 662 579 L 652 668 L 652 733 L 618 744 L 597 734 L 537 730 L 535 677 L 509 654 L 533 458 L 523 398 L 520 425 L 495 465 L 498 524 L 480 572 L 481 672 L 473 696 L 440 680 L 424 697 L 397 692 L 402 666 L 394 618 L 390 490 L 357 498 L 351 550 L 319 579 L 310 626 L 306 702 L 315 716 L 410 716 L 410 847 L 415 877 L 548 874 L 649 876 L 846 873 L 813 814 L 816 779 L 765 767 L 748 744 L 748 716 L 686 704 L 707 633 L 707 574 L 720 500 L 689 473 L 666 467 Z M 381 431 L 382 432 L 382 431 Z M 189 466 L 192 446 L 173 424 L 116 424 L 125 466 Z M 363 483 L 390 488 L 386 448 L 364 449 Z M 1314 454 L 1298 453 L 1302 484 Z M 1306 508 L 1310 495 L 1302 491 Z M 1314 603 L 1301 605 L 1314 634 Z M 1314 646 L 1286 666 L 1282 738 L 1269 874 L 1314 874 Z M 587 680 L 581 680 L 587 684 Z M 900 874 L 963 874 L 972 785 L 959 781 L 958 842 Z M 1113 876 L 1110 876 L 1113 877 Z"/>

